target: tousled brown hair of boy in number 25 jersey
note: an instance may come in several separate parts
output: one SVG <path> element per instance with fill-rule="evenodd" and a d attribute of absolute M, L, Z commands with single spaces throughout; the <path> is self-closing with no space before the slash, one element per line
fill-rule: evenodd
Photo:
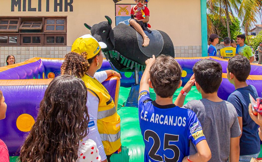
<path fill-rule="evenodd" d="M 161 98 L 173 96 L 181 80 L 182 68 L 171 56 L 160 55 L 150 68 L 150 80 Z"/>

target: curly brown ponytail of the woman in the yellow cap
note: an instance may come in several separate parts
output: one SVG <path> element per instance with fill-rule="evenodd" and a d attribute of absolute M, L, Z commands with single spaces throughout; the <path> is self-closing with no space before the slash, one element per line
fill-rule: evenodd
<path fill-rule="evenodd" d="M 65 61 L 61 66 L 61 75 L 68 74 L 82 78 L 88 71 L 90 64 L 84 55 L 70 52 L 65 55 Z"/>

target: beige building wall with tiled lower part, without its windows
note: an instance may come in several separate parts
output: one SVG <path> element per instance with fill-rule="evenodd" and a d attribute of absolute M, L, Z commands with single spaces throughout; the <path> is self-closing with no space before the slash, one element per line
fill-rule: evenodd
<path fill-rule="evenodd" d="M 13 12 L 11 11 L 12 1 L 21 1 L 20 12 L 18 11 L 19 6 L 14 7 Z M 55 48 L 53 49 L 50 47 L 50 57 L 64 57 L 66 52 L 70 51 L 70 46 L 77 37 L 84 34 L 90 34 L 90 31 L 83 25 L 84 23 L 92 26 L 101 21 L 106 21 L 104 16 L 107 15 L 113 20 L 112 27 L 115 26 L 115 4 L 112 0 L 50 0 L 49 12 L 46 12 L 46 0 L 41 0 L 41 12 L 38 11 L 38 0 L 32 0 L 31 5 L 31 8 L 36 8 L 36 11 L 28 11 L 29 0 L 26 0 L 26 11 L 23 11 L 23 1 L 24 0 L 0 0 L 0 16 L 67 16 L 66 50 L 59 50 L 65 48 L 58 48 L 58 50 L 55 50 Z M 56 7 L 58 10 L 57 12 L 54 11 L 55 1 L 63 3 L 61 8 L 62 12 L 59 11 L 60 7 Z M 69 7 L 68 12 L 65 12 L 65 1 L 73 1 L 72 12 L 69 11 Z M 134 2 L 132 0 L 122 0 L 118 3 Z M 150 10 L 149 22 L 152 26 L 151 29 L 165 31 L 171 37 L 175 46 L 176 57 L 201 56 L 200 0 L 187 0 L 186 2 L 183 0 L 150 1 L 148 3 L 148 8 Z M 38 50 L 40 48 L 41 50 Z M 49 49 L 49 47 L 39 47 L 37 50 L 35 47 L 1 47 L 0 66 L 5 64 L 7 53 L 15 55 L 17 62 L 20 62 L 27 58 L 35 57 L 36 53 L 38 57 L 49 57 L 49 55 L 44 52 L 46 51 L 49 53 L 49 50 L 46 49 Z M 31 54 L 30 51 L 32 51 Z M 56 55 L 56 51 L 60 54 Z"/>

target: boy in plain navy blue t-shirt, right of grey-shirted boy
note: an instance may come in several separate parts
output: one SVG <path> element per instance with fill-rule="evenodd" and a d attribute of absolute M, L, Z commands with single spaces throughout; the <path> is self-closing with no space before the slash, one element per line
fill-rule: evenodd
<path fill-rule="evenodd" d="M 250 62 L 246 57 L 234 56 L 228 60 L 227 79 L 234 84 L 235 91 L 227 100 L 235 106 L 242 131 L 239 161 L 250 161 L 252 157 L 257 158 L 260 153 L 259 126 L 251 119 L 248 112 L 249 93 L 253 98 L 258 97 L 255 87 L 246 83 L 250 70 Z"/>

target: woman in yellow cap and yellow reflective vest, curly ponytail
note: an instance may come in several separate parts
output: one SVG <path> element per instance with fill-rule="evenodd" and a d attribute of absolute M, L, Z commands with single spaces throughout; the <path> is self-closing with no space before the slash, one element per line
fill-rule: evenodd
<path fill-rule="evenodd" d="M 81 36 L 74 41 L 72 52 L 65 56 L 61 66 L 61 74 L 80 77 L 87 87 L 90 116 L 87 137 L 96 142 L 102 162 L 110 162 L 110 156 L 121 147 L 120 117 L 113 99 L 101 84 L 109 76 L 120 78 L 120 74 L 114 70 L 96 72 L 103 62 L 101 49 L 106 47 L 90 34 Z"/>

